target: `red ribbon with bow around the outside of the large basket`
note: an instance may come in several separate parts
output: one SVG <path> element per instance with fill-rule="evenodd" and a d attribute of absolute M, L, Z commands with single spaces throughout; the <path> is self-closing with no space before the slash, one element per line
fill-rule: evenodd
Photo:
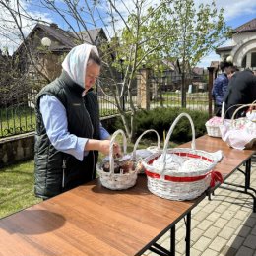
<path fill-rule="evenodd" d="M 145 170 L 145 173 L 147 174 L 147 176 L 151 177 L 151 178 L 159 178 L 160 179 L 160 174 L 158 173 L 153 173 L 150 172 L 149 170 Z M 219 171 L 211 171 L 211 182 L 210 182 L 210 186 L 214 187 L 216 182 L 223 182 L 223 176 Z M 164 179 L 165 180 L 169 180 L 172 182 L 193 182 L 193 181 L 198 181 L 201 179 L 204 179 L 207 175 L 209 175 L 209 173 L 205 174 L 205 175 L 200 175 L 200 176 L 194 176 L 194 177 L 175 177 L 175 176 L 168 176 L 165 175 Z"/>

